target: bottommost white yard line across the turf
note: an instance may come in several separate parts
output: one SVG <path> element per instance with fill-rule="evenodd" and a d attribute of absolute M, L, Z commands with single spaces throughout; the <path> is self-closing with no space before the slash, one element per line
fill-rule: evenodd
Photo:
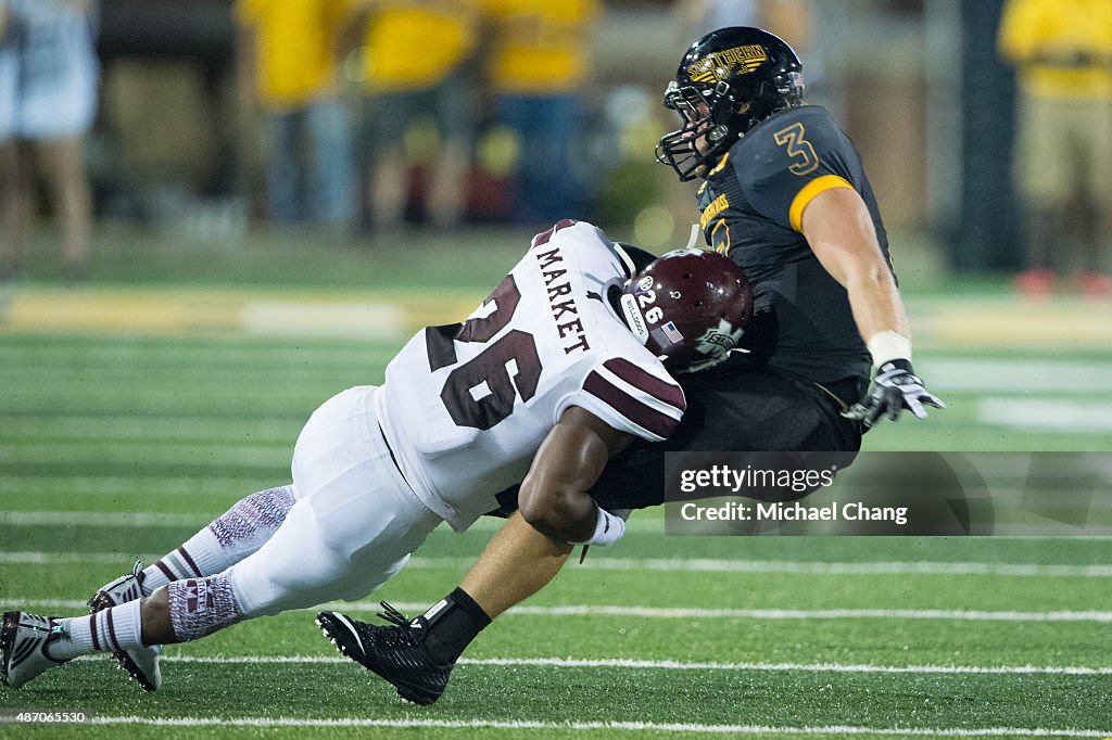
<path fill-rule="evenodd" d="M 294 719 L 249 717 L 224 719 L 216 717 L 95 717 L 93 724 L 149 724 L 153 727 L 336 727 L 336 728 L 427 728 L 493 730 L 617 730 L 628 732 L 698 732 L 704 734 L 876 734 L 892 737 L 950 737 L 950 738 L 1106 738 L 1112 731 L 1073 730 L 1052 728 L 872 728 L 850 726 L 775 727 L 763 724 L 697 724 L 683 722 L 545 722 L 542 720 L 438 720 L 438 719 Z"/>

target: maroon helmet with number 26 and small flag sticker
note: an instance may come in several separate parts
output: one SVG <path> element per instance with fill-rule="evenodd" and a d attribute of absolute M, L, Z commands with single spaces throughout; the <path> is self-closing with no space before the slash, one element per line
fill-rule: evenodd
<path fill-rule="evenodd" d="M 722 362 L 753 317 L 753 290 L 728 257 L 703 249 L 661 256 L 619 298 L 631 331 L 671 372 Z"/>

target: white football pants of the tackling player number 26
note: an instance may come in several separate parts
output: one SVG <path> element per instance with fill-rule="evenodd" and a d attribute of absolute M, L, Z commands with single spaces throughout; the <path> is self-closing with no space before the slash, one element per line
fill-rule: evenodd
<path fill-rule="evenodd" d="M 334 396 L 301 430 L 296 503 L 274 537 L 231 568 L 244 616 L 360 599 L 396 576 L 440 523 L 390 459 L 371 402 L 377 390 Z"/>

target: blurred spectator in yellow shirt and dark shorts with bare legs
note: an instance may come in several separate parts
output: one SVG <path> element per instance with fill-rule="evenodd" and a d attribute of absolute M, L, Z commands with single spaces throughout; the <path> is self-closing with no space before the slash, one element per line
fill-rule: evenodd
<path fill-rule="evenodd" d="M 419 150 L 429 176 L 426 211 L 438 228 L 450 229 L 467 204 L 475 138 L 469 62 L 478 43 L 477 0 L 356 2 L 366 23 L 361 143 L 374 228 L 389 232 L 401 224 L 408 167 Z"/>

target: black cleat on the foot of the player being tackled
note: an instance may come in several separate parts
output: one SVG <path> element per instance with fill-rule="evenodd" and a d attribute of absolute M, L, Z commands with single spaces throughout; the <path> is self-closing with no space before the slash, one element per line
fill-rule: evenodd
<path fill-rule="evenodd" d="M 448 686 L 455 661 L 436 662 L 425 647 L 428 623 L 424 617 L 409 620 L 381 602 L 378 616 L 390 627 L 367 624 L 337 611 L 321 611 L 317 626 L 340 654 L 361 663 L 394 684 L 398 696 L 417 704 L 430 704 Z"/>

